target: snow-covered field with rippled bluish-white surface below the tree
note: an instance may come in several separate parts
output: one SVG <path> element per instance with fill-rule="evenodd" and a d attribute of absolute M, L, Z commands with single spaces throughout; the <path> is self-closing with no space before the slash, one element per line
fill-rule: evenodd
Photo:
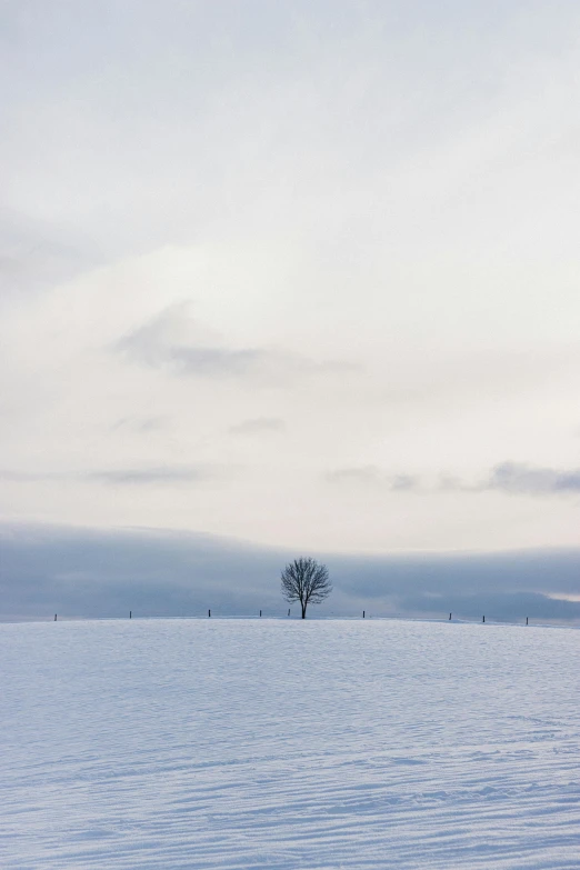
<path fill-rule="evenodd" d="M 580 632 L 0 626 L 0 866 L 580 867 Z"/>

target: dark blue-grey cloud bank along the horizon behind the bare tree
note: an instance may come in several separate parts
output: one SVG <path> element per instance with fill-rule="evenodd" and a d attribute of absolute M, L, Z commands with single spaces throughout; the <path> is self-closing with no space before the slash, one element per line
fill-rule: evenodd
<path fill-rule="evenodd" d="M 297 553 L 177 532 L 0 526 L 0 616 L 282 616 L 280 569 Z M 314 613 L 522 622 L 580 620 L 580 550 L 347 557 Z"/>

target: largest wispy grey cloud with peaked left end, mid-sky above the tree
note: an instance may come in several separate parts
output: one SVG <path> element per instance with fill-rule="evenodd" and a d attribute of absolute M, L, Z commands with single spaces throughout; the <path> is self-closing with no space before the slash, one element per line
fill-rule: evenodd
<path fill-rule="evenodd" d="M 291 351 L 228 347 L 209 336 L 188 313 L 183 302 L 161 311 L 113 344 L 128 359 L 181 377 L 234 378 L 283 383 L 300 376 L 357 371 L 341 360 L 314 361 Z"/>

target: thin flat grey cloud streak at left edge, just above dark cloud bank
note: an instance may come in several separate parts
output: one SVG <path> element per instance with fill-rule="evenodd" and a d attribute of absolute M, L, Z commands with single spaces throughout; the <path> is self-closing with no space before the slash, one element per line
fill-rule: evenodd
<path fill-rule="evenodd" d="M 201 483 L 208 480 L 224 479 L 232 473 L 231 468 L 219 466 L 158 466 L 149 468 L 116 468 L 98 471 L 0 471 L 0 479 L 17 483 L 39 483 L 43 481 L 101 482 L 111 486 L 153 486 L 171 483 Z"/>

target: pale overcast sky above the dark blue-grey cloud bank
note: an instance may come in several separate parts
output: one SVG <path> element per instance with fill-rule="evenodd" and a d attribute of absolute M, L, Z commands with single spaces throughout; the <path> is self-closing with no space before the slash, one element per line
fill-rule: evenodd
<path fill-rule="evenodd" d="M 0 517 L 570 548 L 576 0 L 4 0 Z"/>

